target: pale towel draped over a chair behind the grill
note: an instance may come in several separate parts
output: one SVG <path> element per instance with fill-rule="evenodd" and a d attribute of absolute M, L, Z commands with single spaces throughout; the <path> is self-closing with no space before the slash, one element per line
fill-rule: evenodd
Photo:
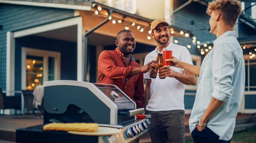
<path fill-rule="evenodd" d="M 36 86 L 36 89 L 34 90 L 33 95 L 34 95 L 33 105 L 36 109 L 38 109 L 38 105 L 42 104 L 42 99 L 44 97 L 44 86 L 43 85 Z"/>

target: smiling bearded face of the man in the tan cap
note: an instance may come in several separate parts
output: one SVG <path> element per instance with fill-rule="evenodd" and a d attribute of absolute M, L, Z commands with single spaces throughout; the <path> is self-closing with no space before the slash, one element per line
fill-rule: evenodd
<path fill-rule="evenodd" d="M 168 26 L 165 24 L 158 24 L 153 32 L 151 32 L 151 36 L 155 38 L 156 42 L 158 42 L 159 44 L 167 44 L 170 37 Z"/>

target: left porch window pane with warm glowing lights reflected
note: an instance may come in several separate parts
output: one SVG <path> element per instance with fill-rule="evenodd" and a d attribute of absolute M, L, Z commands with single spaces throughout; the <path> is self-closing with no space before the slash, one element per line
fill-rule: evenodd
<path fill-rule="evenodd" d="M 29 56 L 26 59 L 26 89 L 34 90 L 43 84 L 43 57 Z"/>

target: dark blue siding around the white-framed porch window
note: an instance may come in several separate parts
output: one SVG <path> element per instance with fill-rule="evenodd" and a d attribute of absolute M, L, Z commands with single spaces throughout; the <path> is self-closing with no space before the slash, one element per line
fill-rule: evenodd
<path fill-rule="evenodd" d="M 21 90 L 21 48 L 35 48 L 61 53 L 61 80 L 76 80 L 77 45 L 73 42 L 38 36 L 15 39 L 15 90 Z"/>

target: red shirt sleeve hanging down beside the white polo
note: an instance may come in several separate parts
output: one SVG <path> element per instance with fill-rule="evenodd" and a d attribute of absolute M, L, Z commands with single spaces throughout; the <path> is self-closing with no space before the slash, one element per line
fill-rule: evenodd
<path fill-rule="evenodd" d="M 143 84 L 143 74 L 140 73 L 139 79 L 137 80 L 135 87 L 135 94 L 133 99 L 137 105 L 137 108 L 144 107 L 144 84 Z"/>

